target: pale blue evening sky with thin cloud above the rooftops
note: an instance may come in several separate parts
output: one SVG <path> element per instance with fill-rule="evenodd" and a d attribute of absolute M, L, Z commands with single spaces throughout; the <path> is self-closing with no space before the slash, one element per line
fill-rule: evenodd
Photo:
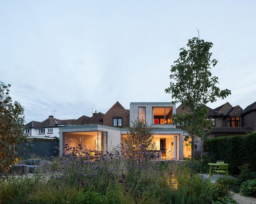
<path fill-rule="evenodd" d="M 188 39 L 211 41 L 227 101 L 256 101 L 255 0 L 0 1 L 0 81 L 26 122 L 170 102 L 170 66 Z"/>

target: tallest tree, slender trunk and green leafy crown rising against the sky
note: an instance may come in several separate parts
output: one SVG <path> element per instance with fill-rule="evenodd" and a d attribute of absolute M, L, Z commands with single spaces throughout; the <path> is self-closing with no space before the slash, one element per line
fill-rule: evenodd
<path fill-rule="evenodd" d="M 170 87 L 165 89 L 171 93 L 173 103 L 182 103 L 186 113 L 173 114 L 173 123 L 181 124 L 191 137 L 191 175 L 193 174 L 194 139 L 204 134 L 212 124 L 209 123 L 206 104 L 217 98 L 226 98 L 231 94 L 228 89 L 220 90 L 218 77 L 211 75 L 211 65 L 217 60 L 211 60 L 209 52 L 213 43 L 205 42 L 199 37 L 188 40 L 188 49 L 181 48 L 179 59 L 171 66 Z M 185 125 L 186 123 L 186 125 Z"/>

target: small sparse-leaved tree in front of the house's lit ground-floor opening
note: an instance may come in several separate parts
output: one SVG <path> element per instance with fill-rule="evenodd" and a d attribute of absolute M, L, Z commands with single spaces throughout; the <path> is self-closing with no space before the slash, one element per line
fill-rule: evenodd
<path fill-rule="evenodd" d="M 123 147 L 130 154 L 143 150 L 155 150 L 153 142 L 153 128 L 148 126 L 144 119 L 132 121 L 133 126 L 127 132 L 127 138 L 123 139 Z"/>

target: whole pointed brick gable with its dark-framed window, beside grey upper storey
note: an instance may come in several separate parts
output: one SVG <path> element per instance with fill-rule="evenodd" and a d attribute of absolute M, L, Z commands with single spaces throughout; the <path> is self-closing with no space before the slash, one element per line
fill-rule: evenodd
<path fill-rule="evenodd" d="M 130 110 L 125 109 L 118 101 L 104 114 L 102 124 L 109 127 L 129 127 Z"/>

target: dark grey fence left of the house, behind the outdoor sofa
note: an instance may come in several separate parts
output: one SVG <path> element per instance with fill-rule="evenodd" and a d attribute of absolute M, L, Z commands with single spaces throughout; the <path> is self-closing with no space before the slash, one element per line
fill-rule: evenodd
<path fill-rule="evenodd" d="M 42 141 L 33 141 L 23 143 L 19 148 L 18 156 L 30 159 L 34 157 L 45 157 L 45 156 L 58 156 L 59 155 L 59 142 L 42 142 Z"/>

